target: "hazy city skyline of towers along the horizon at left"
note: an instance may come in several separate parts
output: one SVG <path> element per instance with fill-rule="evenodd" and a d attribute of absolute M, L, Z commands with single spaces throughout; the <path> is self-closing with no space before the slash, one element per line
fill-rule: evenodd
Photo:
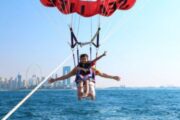
<path fill-rule="evenodd" d="M 70 66 L 63 67 L 63 75 L 70 72 Z M 59 77 L 57 74 L 52 76 L 53 78 Z M 30 78 L 22 79 L 22 75 L 18 73 L 16 77 L 10 78 L 2 78 L 0 77 L 0 90 L 19 90 L 19 89 L 33 89 L 37 86 L 41 81 L 43 81 L 45 77 L 37 76 L 33 74 Z M 46 82 L 41 88 L 43 89 L 72 89 L 75 86 L 74 81 L 71 81 L 71 78 L 68 78 L 63 81 L 57 81 L 55 83 L 49 84 Z"/>

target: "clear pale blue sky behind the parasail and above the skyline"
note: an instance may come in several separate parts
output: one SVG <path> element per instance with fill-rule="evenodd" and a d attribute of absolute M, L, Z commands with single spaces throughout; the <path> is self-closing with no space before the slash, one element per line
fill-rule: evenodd
<path fill-rule="evenodd" d="M 180 86 L 180 1 L 137 0 L 128 11 L 117 10 L 100 17 L 97 68 L 121 81 L 96 78 L 97 87 Z M 37 74 L 47 76 L 72 51 L 69 47 L 72 15 L 44 7 L 39 0 L 2 0 L 0 4 L 0 77 L 24 79 Z M 72 25 L 78 39 L 87 41 L 96 32 L 99 16 L 73 15 Z M 79 32 L 78 32 L 78 21 Z M 89 46 L 80 48 L 87 53 Z M 93 49 L 93 57 L 95 57 Z M 65 65 L 73 66 L 73 59 Z M 62 75 L 62 68 L 57 71 Z"/>

